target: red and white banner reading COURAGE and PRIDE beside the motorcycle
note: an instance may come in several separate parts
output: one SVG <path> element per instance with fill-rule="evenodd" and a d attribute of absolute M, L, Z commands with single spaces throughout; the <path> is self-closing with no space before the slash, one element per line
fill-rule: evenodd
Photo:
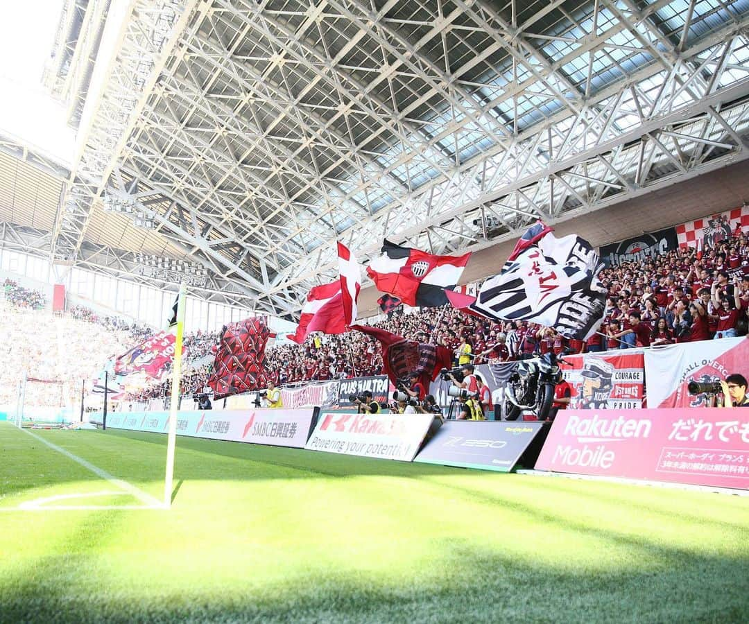
<path fill-rule="evenodd" d="M 572 387 L 570 407 L 597 410 L 641 408 L 645 391 L 643 351 L 567 355 L 562 365 Z"/>

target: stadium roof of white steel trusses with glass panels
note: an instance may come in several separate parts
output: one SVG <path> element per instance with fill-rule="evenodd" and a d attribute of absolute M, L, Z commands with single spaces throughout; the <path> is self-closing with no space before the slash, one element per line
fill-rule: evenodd
<path fill-rule="evenodd" d="M 336 239 L 482 249 L 745 159 L 748 25 L 749 0 L 68 0 L 46 84 L 76 154 L 20 223 L 58 262 L 189 256 L 207 297 L 293 314 Z"/>

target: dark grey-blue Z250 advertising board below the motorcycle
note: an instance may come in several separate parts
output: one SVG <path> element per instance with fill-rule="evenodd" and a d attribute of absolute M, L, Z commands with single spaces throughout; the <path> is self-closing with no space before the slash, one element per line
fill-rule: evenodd
<path fill-rule="evenodd" d="M 448 420 L 414 461 L 510 472 L 548 423 Z"/>

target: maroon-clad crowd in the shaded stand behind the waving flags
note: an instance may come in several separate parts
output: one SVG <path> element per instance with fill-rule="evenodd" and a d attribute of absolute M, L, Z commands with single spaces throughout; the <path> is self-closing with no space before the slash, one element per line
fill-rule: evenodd
<path fill-rule="evenodd" d="M 568 340 L 549 327 L 464 315 L 443 307 L 421 309 L 372 323 L 407 339 L 449 348 L 454 364 L 489 363 L 568 350 L 607 351 L 673 342 L 720 339 L 747 334 L 749 309 L 749 239 L 734 233 L 712 249 L 680 248 L 641 262 L 601 271 L 608 297 L 604 321 L 586 342 Z M 195 335 L 192 359 L 213 353 L 217 333 Z M 267 349 L 265 366 L 277 385 L 303 381 L 366 377 L 382 373 L 382 352 L 371 336 L 350 332 L 315 335 L 303 345 Z M 205 367 L 207 378 L 210 366 Z M 192 373 L 190 373 L 192 375 Z M 197 387 L 188 381 L 187 387 Z M 168 394 L 168 384 L 143 396 Z"/>

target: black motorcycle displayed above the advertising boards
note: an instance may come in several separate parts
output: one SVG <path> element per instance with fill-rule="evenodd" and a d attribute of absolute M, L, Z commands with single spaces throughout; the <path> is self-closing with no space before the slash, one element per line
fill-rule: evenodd
<path fill-rule="evenodd" d="M 531 411 L 539 420 L 546 420 L 554 402 L 554 389 L 562 381 L 560 364 L 566 364 L 553 351 L 533 360 L 521 360 L 505 388 L 505 419 L 517 420 L 524 411 Z"/>

